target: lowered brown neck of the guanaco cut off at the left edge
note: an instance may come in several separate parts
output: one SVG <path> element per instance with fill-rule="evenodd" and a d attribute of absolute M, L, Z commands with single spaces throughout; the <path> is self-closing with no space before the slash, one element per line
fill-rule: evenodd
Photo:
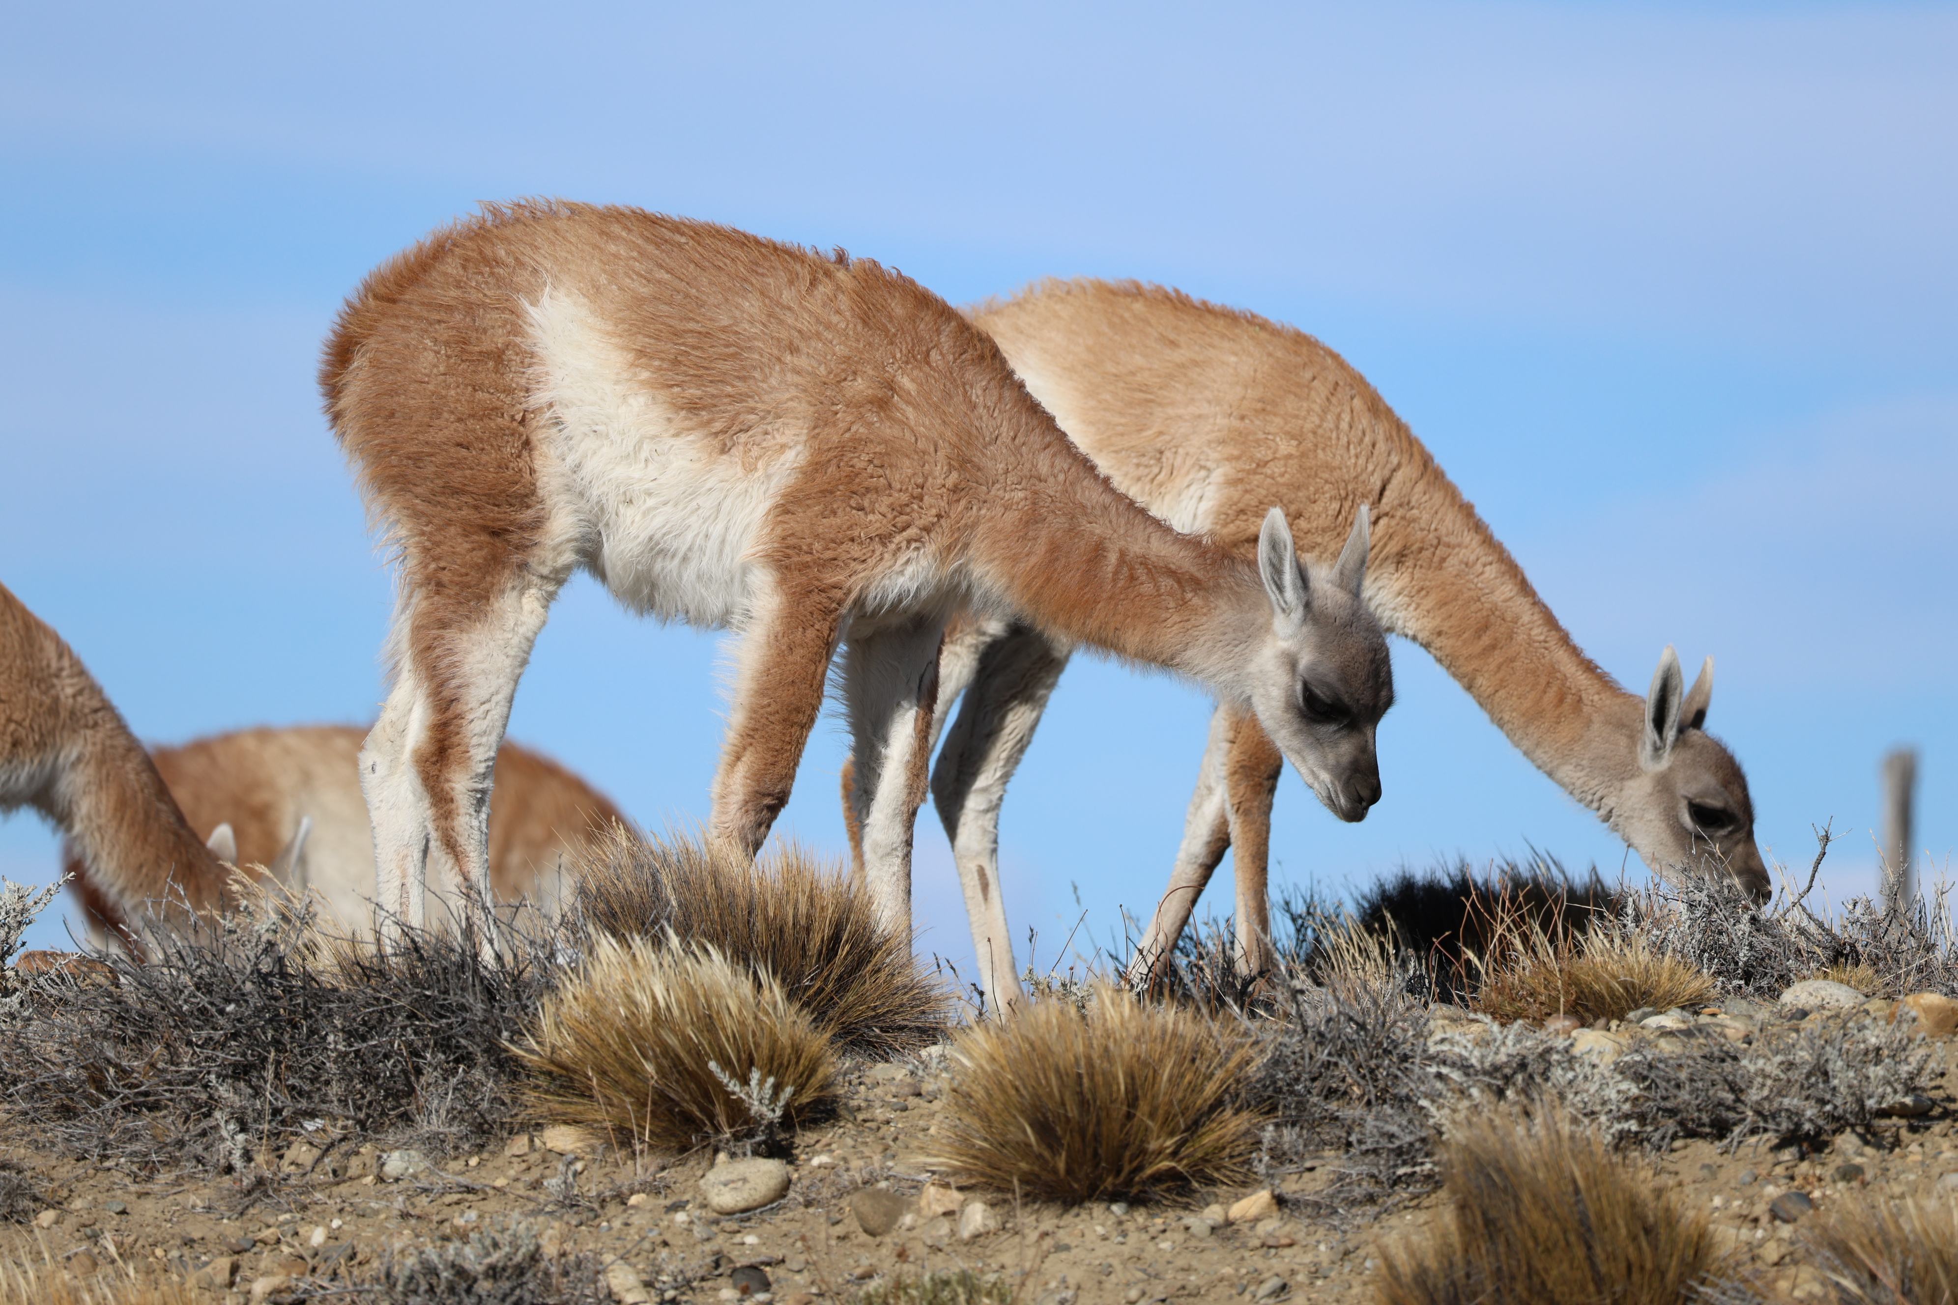
<path fill-rule="evenodd" d="M 37 806 L 67 830 L 90 888 L 131 927 L 147 910 L 170 918 L 186 904 L 217 906 L 223 867 L 184 820 L 149 753 L 72 653 L 59 679 L 67 728 Z"/>

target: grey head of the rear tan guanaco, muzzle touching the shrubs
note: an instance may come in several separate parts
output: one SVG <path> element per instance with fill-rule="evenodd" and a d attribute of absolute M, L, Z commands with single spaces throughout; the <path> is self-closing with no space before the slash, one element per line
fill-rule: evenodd
<path fill-rule="evenodd" d="M 1680 655 L 1658 655 L 1639 732 L 1639 769 L 1613 812 L 1613 828 L 1655 871 L 1731 875 L 1756 902 L 1768 867 L 1754 845 L 1754 802 L 1733 753 L 1705 732 L 1713 657 L 1686 689 Z"/>

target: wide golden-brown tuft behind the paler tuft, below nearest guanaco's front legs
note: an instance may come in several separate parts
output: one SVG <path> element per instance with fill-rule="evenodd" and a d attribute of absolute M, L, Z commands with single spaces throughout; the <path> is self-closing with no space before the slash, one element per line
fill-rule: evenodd
<path fill-rule="evenodd" d="M 701 839 L 627 830 L 578 869 L 585 927 L 609 937 L 709 943 L 773 976 L 842 1047 L 891 1057 L 944 1037 L 952 994 L 918 967 L 910 937 L 877 923 L 869 896 L 801 847 L 756 863 Z"/>

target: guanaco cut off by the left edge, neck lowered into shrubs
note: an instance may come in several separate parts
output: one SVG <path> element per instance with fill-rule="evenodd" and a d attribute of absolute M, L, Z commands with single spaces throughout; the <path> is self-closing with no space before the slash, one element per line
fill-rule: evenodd
<path fill-rule="evenodd" d="M 0 585 L 0 816 L 23 806 L 67 833 L 76 896 L 129 947 L 225 906 L 231 828 L 192 832 L 96 677 Z"/>

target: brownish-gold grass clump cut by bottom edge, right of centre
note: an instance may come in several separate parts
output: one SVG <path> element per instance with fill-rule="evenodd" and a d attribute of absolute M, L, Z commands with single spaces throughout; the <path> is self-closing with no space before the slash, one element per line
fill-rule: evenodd
<path fill-rule="evenodd" d="M 1705 1219 L 1553 1107 L 1463 1115 L 1443 1174 L 1453 1209 L 1382 1248 L 1380 1305 L 1680 1305 L 1719 1276 Z"/>

